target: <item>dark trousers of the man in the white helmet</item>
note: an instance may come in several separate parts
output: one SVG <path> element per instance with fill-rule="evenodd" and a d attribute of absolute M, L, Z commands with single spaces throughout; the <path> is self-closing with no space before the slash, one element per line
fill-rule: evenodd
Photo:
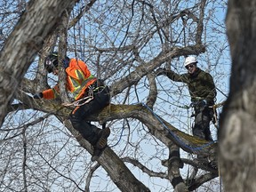
<path fill-rule="evenodd" d="M 203 140 L 212 141 L 210 131 L 212 115 L 212 108 L 195 108 L 195 124 L 192 129 L 194 136 Z"/>

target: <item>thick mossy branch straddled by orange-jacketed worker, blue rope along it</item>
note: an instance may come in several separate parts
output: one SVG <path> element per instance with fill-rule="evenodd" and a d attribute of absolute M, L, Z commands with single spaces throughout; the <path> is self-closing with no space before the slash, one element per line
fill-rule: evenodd
<path fill-rule="evenodd" d="M 30 108 L 57 116 L 63 116 L 64 118 L 68 118 L 72 109 L 62 107 L 60 100 L 59 102 L 57 100 L 33 100 L 26 95 L 23 95 L 23 97 L 20 96 L 20 100 Z M 42 106 L 44 106 L 44 108 L 42 108 Z M 157 116 L 144 104 L 109 105 L 99 111 L 99 114 L 87 116 L 86 120 L 102 123 L 124 118 L 138 119 L 141 123 L 147 125 L 149 132 L 156 136 L 158 140 L 161 140 L 166 146 L 169 146 L 170 142 L 174 142 L 188 153 L 207 155 L 210 156 L 211 159 L 216 159 L 217 144 L 209 143 L 206 140 L 199 140 L 185 132 L 180 132 L 180 130 Z"/>

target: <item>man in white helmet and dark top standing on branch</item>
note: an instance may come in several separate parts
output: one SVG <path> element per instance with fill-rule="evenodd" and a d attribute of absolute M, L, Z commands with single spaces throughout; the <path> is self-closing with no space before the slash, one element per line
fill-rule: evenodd
<path fill-rule="evenodd" d="M 197 60 L 192 56 L 185 59 L 184 67 L 188 70 L 186 74 L 179 75 L 165 68 L 159 68 L 156 74 L 168 76 L 172 81 L 188 85 L 192 102 L 190 106 L 195 109 L 193 135 L 203 140 L 212 141 L 210 122 L 213 119 L 213 109 L 209 106 L 214 105 L 217 94 L 212 76 L 198 68 Z"/>

